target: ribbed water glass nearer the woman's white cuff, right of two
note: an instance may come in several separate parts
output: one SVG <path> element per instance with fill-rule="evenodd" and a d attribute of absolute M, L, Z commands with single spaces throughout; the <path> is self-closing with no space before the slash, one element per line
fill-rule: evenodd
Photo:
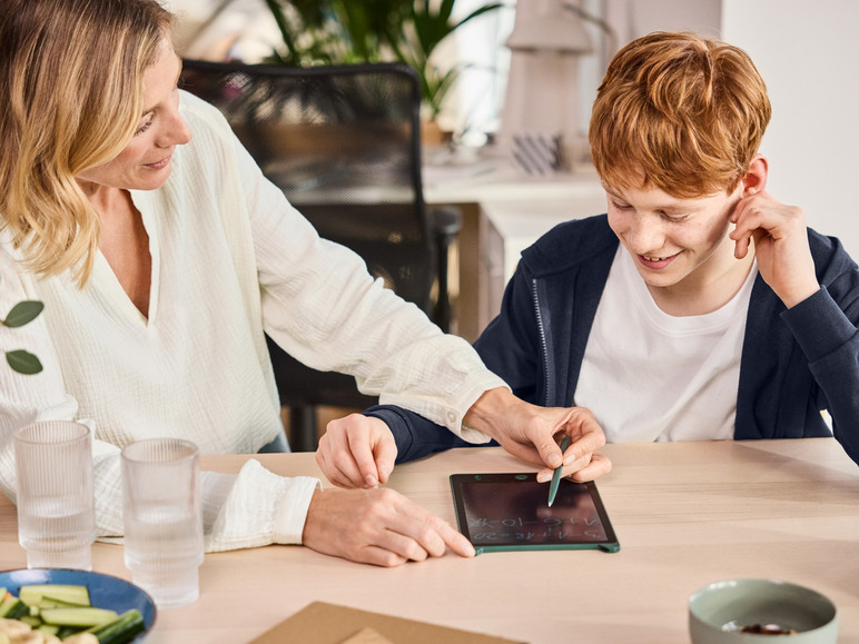
<path fill-rule="evenodd" d="M 126 566 L 159 608 L 199 597 L 203 504 L 199 450 L 179 438 L 152 438 L 122 448 Z"/>

